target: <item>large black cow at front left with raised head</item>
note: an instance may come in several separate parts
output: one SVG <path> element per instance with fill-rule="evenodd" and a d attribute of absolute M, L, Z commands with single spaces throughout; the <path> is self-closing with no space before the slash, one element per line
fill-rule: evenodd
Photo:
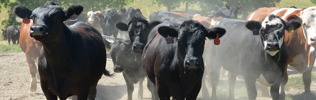
<path fill-rule="evenodd" d="M 80 14 L 83 6 L 71 5 L 66 10 L 46 2 L 34 11 L 18 5 L 14 12 L 34 24 L 30 36 L 42 43 L 38 70 L 40 84 L 48 100 L 66 100 L 76 95 L 78 100 L 94 100 L 96 86 L 105 69 L 106 50 L 98 30 L 83 22 L 68 26 L 63 22 Z"/>

